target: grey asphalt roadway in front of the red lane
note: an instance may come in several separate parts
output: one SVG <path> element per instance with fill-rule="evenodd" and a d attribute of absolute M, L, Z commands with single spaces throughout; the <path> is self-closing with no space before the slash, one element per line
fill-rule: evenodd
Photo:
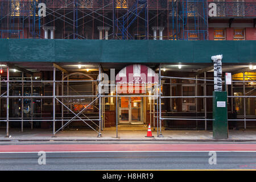
<path fill-rule="evenodd" d="M 46 164 L 38 152 L 0 153 L 0 170 L 149 170 L 149 169 L 256 169 L 256 152 L 46 152 Z M 43 160 L 40 160 L 43 162 Z"/>

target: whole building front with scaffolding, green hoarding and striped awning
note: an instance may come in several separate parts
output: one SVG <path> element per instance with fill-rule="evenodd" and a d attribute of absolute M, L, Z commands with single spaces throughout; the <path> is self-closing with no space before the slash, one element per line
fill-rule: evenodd
<path fill-rule="evenodd" d="M 229 127 L 256 127 L 255 7 L 255 0 L 0 0 L 0 126 L 54 135 L 67 126 L 98 135 L 148 123 L 212 129 L 210 57 L 220 54 Z"/>

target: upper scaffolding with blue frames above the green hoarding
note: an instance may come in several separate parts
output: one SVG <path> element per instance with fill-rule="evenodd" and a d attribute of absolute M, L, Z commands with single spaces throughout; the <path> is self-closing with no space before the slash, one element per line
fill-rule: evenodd
<path fill-rule="evenodd" d="M 42 3 L 45 16 L 39 15 Z M 56 39 L 207 40 L 207 1 L 0 1 L 1 38 L 43 39 L 47 27 L 55 28 Z M 163 29 L 163 35 L 153 35 L 153 27 Z M 98 35 L 99 31 L 106 34 Z"/>

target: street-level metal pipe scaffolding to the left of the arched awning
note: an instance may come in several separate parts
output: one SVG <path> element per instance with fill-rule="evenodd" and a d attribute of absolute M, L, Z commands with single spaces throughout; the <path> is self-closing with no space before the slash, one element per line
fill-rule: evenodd
<path fill-rule="evenodd" d="M 101 68 L 98 68 L 99 75 L 101 76 Z M 9 122 L 18 123 L 20 122 L 20 131 L 23 132 L 24 122 L 29 122 L 31 129 L 33 129 L 33 123 L 36 122 L 50 122 L 52 125 L 52 134 L 55 134 L 64 129 L 73 121 L 84 122 L 86 126 L 90 129 L 96 131 L 98 137 L 101 137 L 102 130 L 102 97 L 101 92 L 96 92 L 93 90 L 91 93 L 79 94 L 74 90 L 70 84 L 71 83 L 90 83 L 92 85 L 95 82 L 99 85 L 100 80 L 93 79 L 82 79 L 82 80 L 69 80 L 69 76 L 75 75 L 71 73 L 65 76 L 62 72 L 62 79 L 56 80 L 56 67 L 53 66 L 53 79 L 52 80 L 37 80 L 33 77 L 24 77 L 22 72 L 22 77 L 12 77 L 10 79 L 10 69 L 6 67 L 7 77 L 1 77 L 1 90 L 6 89 L 4 93 L 1 94 L 1 101 L 6 100 L 6 117 L 1 114 L 1 121 L 6 122 L 6 136 L 9 137 Z M 22 89 L 20 89 L 21 87 Z M 40 87 L 40 91 L 36 92 L 36 88 Z M 61 87 L 61 93 L 58 95 L 56 89 Z M 15 91 L 17 89 L 17 92 Z M 27 90 L 30 88 L 31 90 Z M 42 89 L 43 88 L 43 89 Z M 47 88 L 52 88 L 50 93 L 47 93 Z M 64 89 L 65 88 L 65 89 Z M 73 89 L 73 90 L 72 90 Z M 75 94 L 74 94 L 75 93 Z M 10 117 L 10 100 L 13 100 L 13 117 Z M 34 106 L 40 103 L 39 111 L 37 112 Z M 52 105 L 52 111 L 50 114 L 42 112 L 42 105 Z M 19 106 L 18 111 L 16 111 L 15 106 Z M 79 106 L 83 106 L 79 108 Z M 60 107 L 57 113 L 57 107 Z M 93 106 L 93 107 L 92 107 Z M 91 112 L 86 112 L 91 108 Z M 18 113 L 18 114 L 16 114 Z M 16 115 L 15 115 L 16 114 Z M 3 119 L 5 118 L 5 119 Z M 56 122 L 61 122 L 60 127 L 56 129 Z M 90 123 L 88 123 L 90 122 Z M 98 128 L 98 129 L 97 129 Z"/>

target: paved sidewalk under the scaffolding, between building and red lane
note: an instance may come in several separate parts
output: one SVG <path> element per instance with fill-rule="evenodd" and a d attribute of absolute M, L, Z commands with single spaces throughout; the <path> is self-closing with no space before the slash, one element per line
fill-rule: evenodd
<path fill-rule="evenodd" d="M 52 130 L 43 129 L 24 129 L 21 133 L 19 129 L 10 129 L 9 138 L 5 138 L 6 130 L 0 129 L 0 141 L 19 140 L 19 141 L 72 141 L 72 140 L 160 140 L 160 141 L 188 141 L 188 142 L 213 142 L 213 141 L 230 141 L 230 142 L 256 142 L 256 129 L 229 130 L 228 139 L 214 139 L 212 138 L 212 131 L 204 130 L 162 130 L 164 137 L 157 137 L 157 132 L 152 129 L 154 138 L 146 138 L 147 129 L 141 130 L 120 130 L 118 131 L 118 138 L 116 128 L 105 129 L 102 131 L 102 137 L 98 138 L 96 131 L 88 129 L 66 129 L 52 137 Z"/>

